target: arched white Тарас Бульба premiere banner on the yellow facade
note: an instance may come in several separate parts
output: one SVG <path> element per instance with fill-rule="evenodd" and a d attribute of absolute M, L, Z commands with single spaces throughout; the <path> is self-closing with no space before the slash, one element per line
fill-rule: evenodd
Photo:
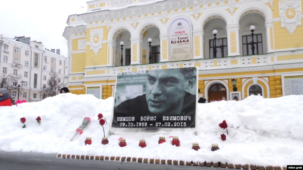
<path fill-rule="evenodd" d="M 168 31 L 169 37 L 169 61 L 191 60 L 192 41 L 191 23 L 185 18 L 176 19 L 171 23 Z"/>

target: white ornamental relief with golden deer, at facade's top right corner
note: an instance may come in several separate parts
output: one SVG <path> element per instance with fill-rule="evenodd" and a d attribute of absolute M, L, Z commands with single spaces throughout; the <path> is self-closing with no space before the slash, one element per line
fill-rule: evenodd
<path fill-rule="evenodd" d="M 292 35 L 297 26 L 301 26 L 301 1 L 285 0 L 279 2 L 281 27 Z"/>

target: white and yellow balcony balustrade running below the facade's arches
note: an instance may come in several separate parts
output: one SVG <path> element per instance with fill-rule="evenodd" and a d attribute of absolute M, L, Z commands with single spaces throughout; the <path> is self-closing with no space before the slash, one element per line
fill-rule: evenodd
<path fill-rule="evenodd" d="M 144 71 L 144 70 L 157 70 L 157 69 L 170 69 L 170 68 L 186 68 L 186 67 L 198 67 L 200 71 L 207 73 L 213 71 L 226 72 L 231 67 L 239 68 L 240 70 L 245 70 L 245 67 L 255 67 L 256 66 L 270 66 L 275 64 L 286 64 L 291 63 L 287 60 L 278 60 L 279 55 L 284 55 L 286 52 L 277 52 L 269 54 L 260 55 L 250 55 L 250 56 L 232 56 L 224 58 L 213 58 L 213 59 L 195 59 L 195 60 L 184 60 L 184 61 L 173 61 L 173 62 L 160 62 L 152 64 L 135 64 L 128 66 L 117 66 L 117 67 L 93 67 L 85 68 L 86 72 L 95 70 L 105 70 L 108 74 L 98 74 L 98 77 L 111 77 L 116 76 L 119 72 L 132 72 L 132 71 Z M 303 62 L 303 60 L 301 61 Z M 95 74 L 83 74 L 83 80 L 95 77 Z M 83 76 L 82 74 L 80 76 Z M 72 77 L 72 76 L 71 76 Z M 71 80 L 70 82 L 77 82 L 79 80 Z"/>

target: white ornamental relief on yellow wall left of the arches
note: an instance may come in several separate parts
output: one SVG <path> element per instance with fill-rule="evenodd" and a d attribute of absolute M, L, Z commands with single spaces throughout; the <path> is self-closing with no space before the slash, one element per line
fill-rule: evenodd
<path fill-rule="evenodd" d="M 95 55 L 102 49 L 103 28 L 92 29 L 90 31 L 90 46 Z"/>

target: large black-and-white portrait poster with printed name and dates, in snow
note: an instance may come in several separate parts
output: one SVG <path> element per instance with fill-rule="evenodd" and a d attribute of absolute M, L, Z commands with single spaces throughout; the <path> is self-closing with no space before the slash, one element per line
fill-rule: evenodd
<path fill-rule="evenodd" d="M 195 128 L 197 67 L 118 73 L 112 127 Z"/>

